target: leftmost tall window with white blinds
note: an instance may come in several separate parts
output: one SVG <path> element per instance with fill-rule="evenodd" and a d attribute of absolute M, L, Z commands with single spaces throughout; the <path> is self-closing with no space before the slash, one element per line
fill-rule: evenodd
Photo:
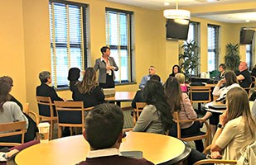
<path fill-rule="evenodd" d="M 51 78 L 54 87 L 68 87 L 68 71 L 87 65 L 86 5 L 50 0 Z"/>

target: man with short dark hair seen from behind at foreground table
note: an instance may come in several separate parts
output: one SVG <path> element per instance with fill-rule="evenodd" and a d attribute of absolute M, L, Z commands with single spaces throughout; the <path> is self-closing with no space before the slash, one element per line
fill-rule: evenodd
<path fill-rule="evenodd" d="M 108 103 L 94 106 L 86 116 L 83 134 L 91 151 L 79 165 L 153 164 L 144 158 L 124 157 L 119 152 L 123 138 L 123 112 L 119 106 Z"/>

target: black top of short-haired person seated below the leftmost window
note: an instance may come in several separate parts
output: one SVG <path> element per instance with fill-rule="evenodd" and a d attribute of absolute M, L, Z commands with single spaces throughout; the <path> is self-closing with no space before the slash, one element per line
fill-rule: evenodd
<path fill-rule="evenodd" d="M 40 86 L 36 87 L 36 96 L 51 97 L 51 101 L 63 101 L 63 99 L 57 95 L 56 90 L 46 85 L 46 83 L 41 83 Z"/>

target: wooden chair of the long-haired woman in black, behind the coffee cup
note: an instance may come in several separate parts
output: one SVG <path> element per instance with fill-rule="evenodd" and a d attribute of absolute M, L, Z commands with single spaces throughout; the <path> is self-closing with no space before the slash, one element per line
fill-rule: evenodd
<path fill-rule="evenodd" d="M 84 108 L 83 101 L 54 101 L 58 114 L 58 138 L 61 138 L 62 127 L 85 128 L 85 111 L 90 111 L 93 107 Z"/>

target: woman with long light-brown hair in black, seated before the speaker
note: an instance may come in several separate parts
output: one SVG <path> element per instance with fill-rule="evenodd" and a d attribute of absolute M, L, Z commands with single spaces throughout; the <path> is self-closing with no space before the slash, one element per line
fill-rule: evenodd
<path fill-rule="evenodd" d="M 104 103 L 104 92 L 96 82 L 96 72 L 94 68 L 85 69 L 82 82 L 77 82 L 73 91 L 74 101 L 83 101 L 84 107 L 97 106 Z"/>

